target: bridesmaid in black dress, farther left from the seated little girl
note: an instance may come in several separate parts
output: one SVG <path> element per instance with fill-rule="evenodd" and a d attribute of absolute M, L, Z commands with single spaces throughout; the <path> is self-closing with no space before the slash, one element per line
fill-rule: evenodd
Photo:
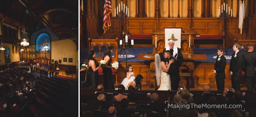
<path fill-rule="evenodd" d="M 87 82 L 89 89 L 96 89 L 99 85 L 99 63 L 94 59 L 96 57 L 96 53 L 93 50 L 88 52 L 88 60 L 89 60 L 89 68 L 87 72 Z"/>

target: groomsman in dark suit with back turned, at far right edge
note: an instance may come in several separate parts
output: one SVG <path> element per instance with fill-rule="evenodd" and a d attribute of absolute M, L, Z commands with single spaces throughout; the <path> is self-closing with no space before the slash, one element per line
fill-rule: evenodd
<path fill-rule="evenodd" d="M 253 45 L 247 46 L 248 52 L 243 55 L 242 69 L 245 71 L 247 90 L 252 90 L 255 79 L 256 54 L 253 53 Z"/>

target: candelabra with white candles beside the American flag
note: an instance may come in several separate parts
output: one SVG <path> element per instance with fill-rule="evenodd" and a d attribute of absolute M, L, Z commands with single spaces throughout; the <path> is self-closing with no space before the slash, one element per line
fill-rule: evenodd
<path fill-rule="evenodd" d="M 129 26 L 129 9 L 127 9 L 127 6 L 125 7 L 125 4 L 123 4 L 123 2 L 121 2 L 121 10 L 120 10 L 120 4 L 119 4 L 119 12 L 118 12 L 118 6 L 115 9 L 115 24 L 117 22 L 119 22 L 119 20 L 125 20 L 125 22 L 127 22 L 128 26 Z M 126 8 L 126 9 L 125 9 Z M 126 11 L 126 13 L 125 13 Z"/>

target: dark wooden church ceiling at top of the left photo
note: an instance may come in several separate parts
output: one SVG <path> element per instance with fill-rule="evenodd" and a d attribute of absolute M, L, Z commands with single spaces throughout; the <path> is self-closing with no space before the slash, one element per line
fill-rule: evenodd
<path fill-rule="evenodd" d="M 0 0 L 0 20 L 30 34 L 46 26 L 78 44 L 78 0 Z"/>

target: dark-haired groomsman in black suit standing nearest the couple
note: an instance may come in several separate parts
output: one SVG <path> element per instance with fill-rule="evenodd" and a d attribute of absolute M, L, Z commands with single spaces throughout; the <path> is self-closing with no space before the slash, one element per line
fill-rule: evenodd
<path fill-rule="evenodd" d="M 224 90 L 224 84 L 225 84 L 225 67 L 226 67 L 226 58 L 224 57 L 225 49 L 223 47 L 218 48 L 218 56 L 216 58 L 216 62 L 214 65 L 213 73 L 215 74 L 216 84 L 218 90 Z"/>

